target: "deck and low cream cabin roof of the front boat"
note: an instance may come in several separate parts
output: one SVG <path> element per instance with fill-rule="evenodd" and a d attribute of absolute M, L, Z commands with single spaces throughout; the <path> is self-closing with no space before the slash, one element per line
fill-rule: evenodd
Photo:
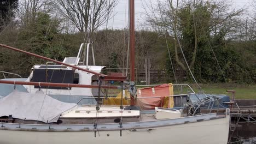
<path fill-rule="evenodd" d="M 71 110 L 61 113 L 59 120 L 52 124 L 103 124 L 119 122 L 148 122 L 160 120 L 161 118 L 156 119 L 156 115 L 157 114 L 155 110 L 121 110 L 119 106 L 100 106 L 100 110 L 96 111 L 96 106 L 77 106 Z M 183 116 L 180 115 L 179 117 Z M 170 118 L 166 117 L 162 119 Z M 22 119 L 13 119 L 13 121 L 8 123 L 47 124 L 39 121 L 24 121 Z"/>

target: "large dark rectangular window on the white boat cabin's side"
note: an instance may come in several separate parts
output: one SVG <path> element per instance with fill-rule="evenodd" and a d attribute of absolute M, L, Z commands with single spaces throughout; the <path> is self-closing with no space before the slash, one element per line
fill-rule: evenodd
<path fill-rule="evenodd" d="M 79 74 L 70 69 L 34 69 L 32 82 L 51 82 L 51 83 L 79 83 Z M 40 88 L 34 86 L 34 88 Z M 49 89 L 68 89 L 67 87 L 41 87 Z M 71 88 L 69 88 L 71 89 Z"/>

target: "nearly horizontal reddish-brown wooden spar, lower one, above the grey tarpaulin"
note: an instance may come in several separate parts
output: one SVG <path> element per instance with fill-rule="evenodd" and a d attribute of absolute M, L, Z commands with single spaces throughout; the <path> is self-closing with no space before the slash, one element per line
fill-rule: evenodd
<path fill-rule="evenodd" d="M 30 85 L 30 86 L 44 86 L 44 87 L 81 87 L 81 88 L 98 88 L 98 85 L 79 85 L 73 83 L 50 83 L 50 82 L 28 82 L 28 81 L 6 81 L 0 80 L 0 83 L 12 85 Z M 121 86 L 101 86 L 106 89 L 120 89 Z"/>

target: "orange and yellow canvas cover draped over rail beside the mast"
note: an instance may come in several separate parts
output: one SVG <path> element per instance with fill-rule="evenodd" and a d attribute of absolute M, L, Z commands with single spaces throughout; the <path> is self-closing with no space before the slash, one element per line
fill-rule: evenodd
<path fill-rule="evenodd" d="M 155 107 L 173 107 L 173 97 L 167 97 L 173 95 L 172 83 L 162 84 L 155 87 L 146 87 L 137 89 L 136 105 L 141 107 L 142 110 L 152 110 Z M 160 97 L 160 98 L 142 98 L 142 97 Z M 141 98 L 141 99 L 140 99 Z"/>

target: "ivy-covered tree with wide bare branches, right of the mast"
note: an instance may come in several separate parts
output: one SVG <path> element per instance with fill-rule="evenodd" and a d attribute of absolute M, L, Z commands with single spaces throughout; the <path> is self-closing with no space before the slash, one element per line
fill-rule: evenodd
<path fill-rule="evenodd" d="M 168 34 L 175 40 L 174 51 L 177 64 L 187 70 L 184 62 L 179 58 L 178 47 L 185 47 L 186 40 L 184 34 L 194 35 L 190 37 L 187 51 L 191 58 L 189 67 L 193 69 L 196 53 L 200 40 L 209 39 L 210 35 L 222 34 L 223 38 L 228 38 L 229 34 L 234 34 L 239 25 L 238 16 L 241 16 L 243 9 L 232 9 L 229 1 L 172 1 L 158 0 L 156 5 L 144 4 L 146 9 L 147 22 L 156 30 Z M 203 38 L 205 37 L 205 38 Z M 178 42 L 181 41 L 181 46 Z"/>

